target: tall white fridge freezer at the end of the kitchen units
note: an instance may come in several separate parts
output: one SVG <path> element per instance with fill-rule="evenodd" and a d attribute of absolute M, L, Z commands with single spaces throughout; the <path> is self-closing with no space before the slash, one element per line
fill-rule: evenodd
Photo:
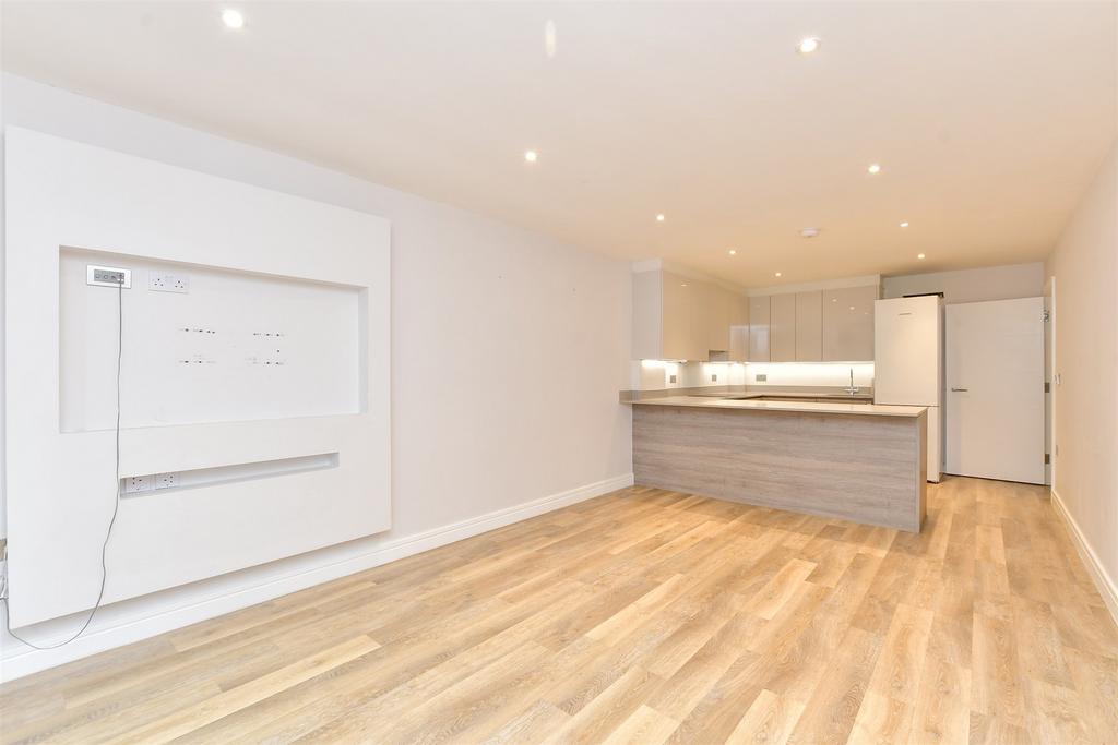
<path fill-rule="evenodd" d="M 928 407 L 928 480 L 942 469 L 944 302 L 939 296 L 877 300 L 873 402 Z"/>

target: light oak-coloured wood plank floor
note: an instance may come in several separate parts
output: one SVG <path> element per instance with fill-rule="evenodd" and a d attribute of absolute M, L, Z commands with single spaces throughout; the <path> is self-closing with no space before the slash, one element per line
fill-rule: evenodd
<path fill-rule="evenodd" d="M 919 535 L 632 488 L 0 688 L 3 742 L 1115 743 L 1043 488 Z"/>

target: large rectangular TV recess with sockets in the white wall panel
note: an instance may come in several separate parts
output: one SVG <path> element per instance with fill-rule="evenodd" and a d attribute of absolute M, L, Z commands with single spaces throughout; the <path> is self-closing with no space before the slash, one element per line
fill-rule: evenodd
<path fill-rule="evenodd" d="M 117 290 L 86 284 L 89 265 L 132 273 L 122 427 L 360 413 L 360 287 L 64 249 L 61 431 L 115 422 Z M 169 277 L 186 292 L 153 289 Z"/>

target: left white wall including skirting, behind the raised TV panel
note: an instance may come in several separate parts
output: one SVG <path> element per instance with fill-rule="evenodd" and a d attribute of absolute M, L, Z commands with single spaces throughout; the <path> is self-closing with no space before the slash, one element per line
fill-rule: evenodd
<path fill-rule="evenodd" d="M 392 222 L 391 532 L 119 603 L 98 615 L 89 639 L 48 661 L 290 592 L 632 478 L 629 409 L 617 402 L 629 373 L 627 264 L 11 75 L 2 78 L 0 113 L 4 124 Z M 11 658 L 27 650 L 4 641 L 10 676 L 18 667 Z"/>

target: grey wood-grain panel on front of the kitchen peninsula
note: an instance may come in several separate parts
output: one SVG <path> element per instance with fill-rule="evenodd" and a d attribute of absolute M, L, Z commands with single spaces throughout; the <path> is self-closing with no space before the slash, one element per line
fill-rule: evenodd
<path fill-rule="evenodd" d="M 636 483 L 918 533 L 927 414 L 633 407 Z"/>

